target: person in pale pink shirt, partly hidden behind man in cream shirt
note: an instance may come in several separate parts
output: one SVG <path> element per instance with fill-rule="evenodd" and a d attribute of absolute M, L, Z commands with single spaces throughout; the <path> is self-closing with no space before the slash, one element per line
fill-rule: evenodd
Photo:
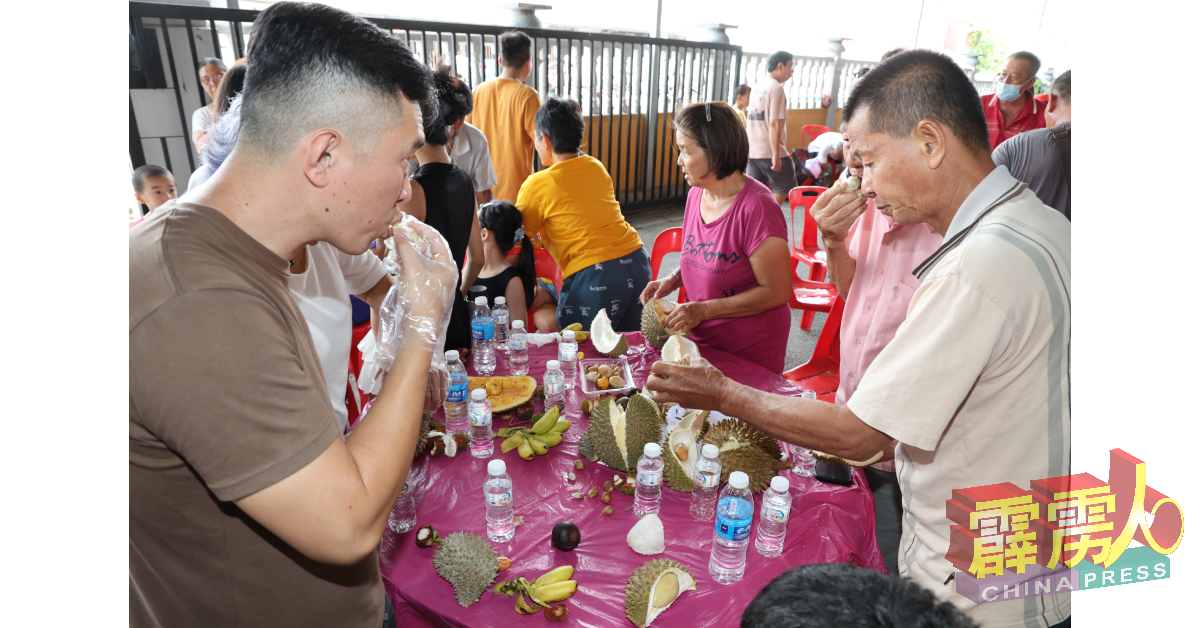
<path fill-rule="evenodd" d="M 842 124 L 842 181 L 812 204 L 812 220 L 821 229 L 829 264 L 828 281 L 846 300 L 841 315 L 841 363 L 836 403 L 854 394 L 866 367 L 892 342 L 908 312 L 908 301 L 920 285 L 912 269 L 937 251 L 942 235 L 926 223 L 900 225 L 893 207 L 874 190 L 846 192 L 845 179 L 863 177 L 853 137 Z M 854 289 L 851 289 L 851 286 Z M 875 539 L 888 572 L 899 573 L 900 483 L 893 447 L 882 460 L 863 469 L 875 496 Z"/>

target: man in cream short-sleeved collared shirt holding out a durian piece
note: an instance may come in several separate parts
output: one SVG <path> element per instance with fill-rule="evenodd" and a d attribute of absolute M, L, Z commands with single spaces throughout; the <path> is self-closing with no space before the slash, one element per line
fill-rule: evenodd
<path fill-rule="evenodd" d="M 946 502 L 956 489 L 1070 473 L 1070 223 L 992 163 L 983 107 L 946 55 L 880 64 L 842 115 L 864 193 L 886 198 L 898 223 L 944 235 L 854 395 L 835 405 L 764 394 L 703 359 L 655 363 L 646 388 L 848 460 L 898 441 L 900 575 L 986 628 L 1069 626 L 1069 593 L 990 604 L 958 594 Z"/>

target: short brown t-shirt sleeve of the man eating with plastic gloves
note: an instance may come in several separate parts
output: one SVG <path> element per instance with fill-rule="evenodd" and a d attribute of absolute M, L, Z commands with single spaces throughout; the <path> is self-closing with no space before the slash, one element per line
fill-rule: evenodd
<path fill-rule="evenodd" d="M 209 289 L 130 333 L 131 417 L 220 500 L 271 486 L 338 438 L 308 330 L 288 321 L 262 295 Z"/>

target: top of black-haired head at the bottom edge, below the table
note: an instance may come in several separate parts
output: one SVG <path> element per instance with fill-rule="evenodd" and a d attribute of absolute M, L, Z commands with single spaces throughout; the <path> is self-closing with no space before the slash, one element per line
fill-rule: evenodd
<path fill-rule="evenodd" d="M 742 612 L 742 628 L 978 628 L 907 578 L 844 563 L 785 572 Z"/>

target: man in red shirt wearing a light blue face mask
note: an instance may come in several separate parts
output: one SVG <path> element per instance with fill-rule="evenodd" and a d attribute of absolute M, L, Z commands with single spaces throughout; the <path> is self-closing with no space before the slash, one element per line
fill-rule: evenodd
<path fill-rule="evenodd" d="M 1042 70 L 1042 60 L 1036 54 L 1025 50 L 1013 53 L 1004 68 L 996 74 L 996 92 L 979 97 L 992 150 L 1010 137 L 1045 128 L 1045 107 L 1033 100 L 1032 88 L 1038 70 Z"/>

